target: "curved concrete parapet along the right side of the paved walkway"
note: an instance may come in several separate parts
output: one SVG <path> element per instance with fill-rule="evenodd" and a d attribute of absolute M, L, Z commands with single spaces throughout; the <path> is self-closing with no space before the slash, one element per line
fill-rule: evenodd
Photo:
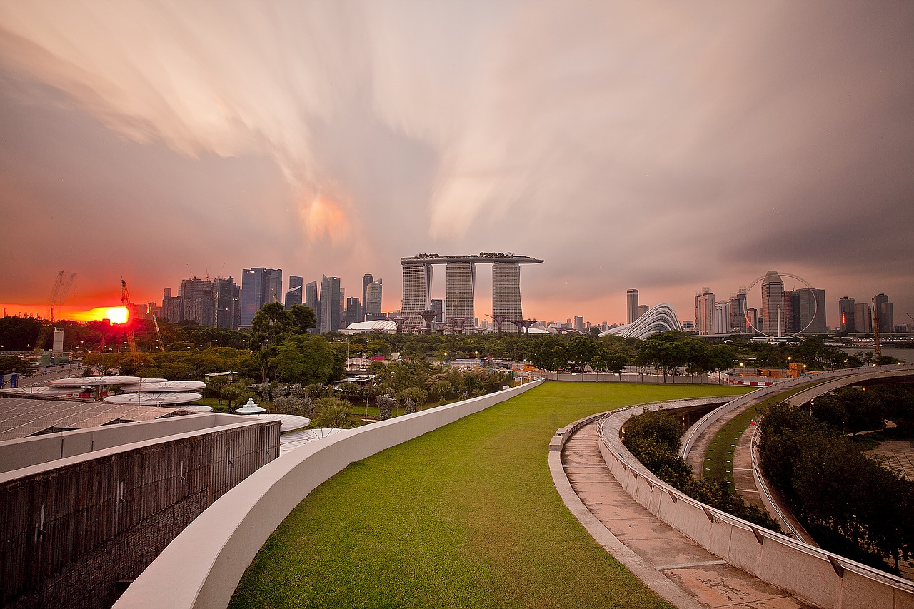
<path fill-rule="evenodd" d="M 914 608 L 914 582 L 760 529 L 661 482 L 619 438 L 622 425 L 641 411 L 613 411 L 603 419 L 600 453 L 626 492 L 657 518 L 725 561 L 816 606 Z"/>

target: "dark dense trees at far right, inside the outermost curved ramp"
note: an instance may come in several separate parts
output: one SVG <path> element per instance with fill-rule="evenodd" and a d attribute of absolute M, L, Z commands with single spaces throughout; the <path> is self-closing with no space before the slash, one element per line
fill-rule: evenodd
<path fill-rule="evenodd" d="M 912 411 L 910 385 L 840 390 L 811 408 L 765 411 L 762 472 L 824 549 L 895 573 L 911 561 L 914 485 L 845 433 L 882 428 L 884 415 L 910 433 Z"/>

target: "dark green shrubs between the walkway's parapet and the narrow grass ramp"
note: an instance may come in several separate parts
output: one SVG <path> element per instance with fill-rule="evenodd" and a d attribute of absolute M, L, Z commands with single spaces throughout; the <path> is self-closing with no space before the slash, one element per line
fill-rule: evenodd
<path fill-rule="evenodd" d="M 666 484 L 702 503 L 781 532 L 778 522 L 764 509 L 749 506 L 727 480 L 699 480 L 679 456 L 682 424 L 666 411 L 644 412 L 625 423 L 622 443 L 645 467 Z"/>

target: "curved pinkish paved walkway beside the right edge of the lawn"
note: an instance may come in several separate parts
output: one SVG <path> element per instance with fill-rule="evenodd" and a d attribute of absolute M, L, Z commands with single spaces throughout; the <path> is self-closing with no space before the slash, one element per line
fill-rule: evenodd
<path fill-rule="evenodd" d="M 562 469 L 580 502 L 609 533 L 600 539 L 588 527 L 591 535 L 655 592 L 684 608 L 810 606 L 722 561 L 642 508 L 613 477 L 597 442 L 597 423 L 582 427 L 565 444 Z"/>

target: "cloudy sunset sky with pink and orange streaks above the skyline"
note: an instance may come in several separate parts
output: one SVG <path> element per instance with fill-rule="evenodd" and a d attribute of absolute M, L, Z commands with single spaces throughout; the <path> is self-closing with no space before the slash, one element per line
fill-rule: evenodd
<path fill-rule="evenodd" d="M 904 323 L 912 31 L 906 0 L 0 0 L 0 304 L 265 266 L 392 311 L 401 257 L 513 251 L 526 317 L 692 319 L 774 269 L 830 326 L 878 293 Z"/>

